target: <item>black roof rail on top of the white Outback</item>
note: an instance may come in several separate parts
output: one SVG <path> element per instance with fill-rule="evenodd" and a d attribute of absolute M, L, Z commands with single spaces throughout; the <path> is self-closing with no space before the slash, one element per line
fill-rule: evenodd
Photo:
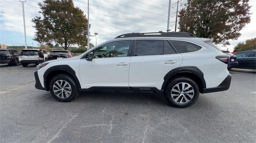
<path fill-rule="evenodd" d="M 158 33 L 158 34 L 156 34 Z M 127 33 L 119 35 L 116 38 L 127 38 L 127 37 L 191 37 L 196 36 L 188 32 L 151 32 L 151 33 Z"/>

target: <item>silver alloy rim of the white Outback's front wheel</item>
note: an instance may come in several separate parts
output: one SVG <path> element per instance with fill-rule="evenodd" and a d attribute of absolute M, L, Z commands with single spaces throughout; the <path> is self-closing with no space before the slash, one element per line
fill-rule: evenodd
<path fill-rule="evenodd" d="M 71 86 L 66 80 L 57 80 L 52 88 L 54 94 L 59 98 L 68 98 L 72 92 Z"/>

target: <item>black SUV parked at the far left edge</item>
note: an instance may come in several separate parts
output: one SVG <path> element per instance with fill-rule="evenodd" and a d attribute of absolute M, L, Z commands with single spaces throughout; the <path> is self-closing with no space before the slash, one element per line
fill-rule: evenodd
<path fill-rule="evenodd" d="M 20 65 L 18 59 L 19 52 L 15 49 L 0 49 L 0 64 Z"/>

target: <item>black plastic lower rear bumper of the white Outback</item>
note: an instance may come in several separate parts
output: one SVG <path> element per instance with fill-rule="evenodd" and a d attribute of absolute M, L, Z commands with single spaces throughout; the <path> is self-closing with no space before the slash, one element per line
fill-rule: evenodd
<path fill-rule="evenodd" d="M 211 93 L 228 90 L 231 83 L 231 75 L 228 76 L 220 83 L 219 86 L 213 88 L 204 88 L 202 93 Z"/>

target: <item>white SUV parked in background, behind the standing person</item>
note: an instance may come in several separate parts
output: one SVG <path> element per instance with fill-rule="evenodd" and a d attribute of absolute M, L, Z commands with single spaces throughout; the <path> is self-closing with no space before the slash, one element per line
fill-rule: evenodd
<path fill-rule="evenodd" d="M 19 54 L 19 61 L 23 67 L 28 67 L 28 64 L 39 64 L 38 59 L 39 49 L 23 49 Z M 44 61 L 47 61 L 48 51 L 43 50 Z"/>

